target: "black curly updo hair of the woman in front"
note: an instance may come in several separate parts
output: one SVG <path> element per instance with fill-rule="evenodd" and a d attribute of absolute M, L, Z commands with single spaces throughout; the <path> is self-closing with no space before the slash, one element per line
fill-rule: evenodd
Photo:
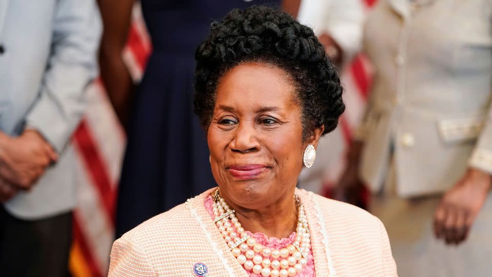
<path fill-rule="evenodd" d="M 220 77 L 247 62 L 273 64 L 294 81 L 301 106 L 303 141 L 315 128 L 333 131 L 345 110 L 335 66 L 313 30 L 285 12 L 265 6 L 234 9 L 213 22 L 210 35 L 195 52 L 194 110 L 208 129 Z"/>

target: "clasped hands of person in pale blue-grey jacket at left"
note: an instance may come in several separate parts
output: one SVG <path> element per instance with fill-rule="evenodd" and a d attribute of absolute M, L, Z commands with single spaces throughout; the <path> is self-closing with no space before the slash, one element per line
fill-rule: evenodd
<path fill-rule="evenodd" d="M 28 190 L 58 155 L 42 135 L 26 130 L 18 137 L 0 134 L 0 179 Z"/>

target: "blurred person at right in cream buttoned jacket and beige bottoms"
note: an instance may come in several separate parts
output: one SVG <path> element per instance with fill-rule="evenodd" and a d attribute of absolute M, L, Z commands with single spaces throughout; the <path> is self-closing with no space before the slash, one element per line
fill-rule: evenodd
<path fill-rule="evenodd" d="M 381 0 L 375 68 L 338 199 L 362 183 L 400 276 L 486 276 L 492 256 L 492 2 Z"/>

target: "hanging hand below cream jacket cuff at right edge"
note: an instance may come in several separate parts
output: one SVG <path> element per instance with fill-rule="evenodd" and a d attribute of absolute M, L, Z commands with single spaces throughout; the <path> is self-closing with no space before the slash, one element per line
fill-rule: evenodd
<path fill-rule="evenodd" d="M 462 179 L 442 197 L 434 215 L 434 233 L 446 244 L 463 242 L 487 197 L 492 177 L 468 169 Z"/>

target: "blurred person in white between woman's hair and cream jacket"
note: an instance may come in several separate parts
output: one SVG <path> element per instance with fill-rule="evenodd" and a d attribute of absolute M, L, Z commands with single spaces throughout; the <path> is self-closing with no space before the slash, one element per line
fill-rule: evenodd
<path fill-rule="evenodd" d="M 299 7 L 299 22 L 313 28 L 323 44 L 330 60 L 341 71 L 360 51 L 364 21 L 361 0 L 302 0 Z M 319 160 L 310 170 L 299 176 L 299 187 L 322 193 L 327 169 L 340 162 L 344 138 L 340 128 L 320 138 Z"/>

